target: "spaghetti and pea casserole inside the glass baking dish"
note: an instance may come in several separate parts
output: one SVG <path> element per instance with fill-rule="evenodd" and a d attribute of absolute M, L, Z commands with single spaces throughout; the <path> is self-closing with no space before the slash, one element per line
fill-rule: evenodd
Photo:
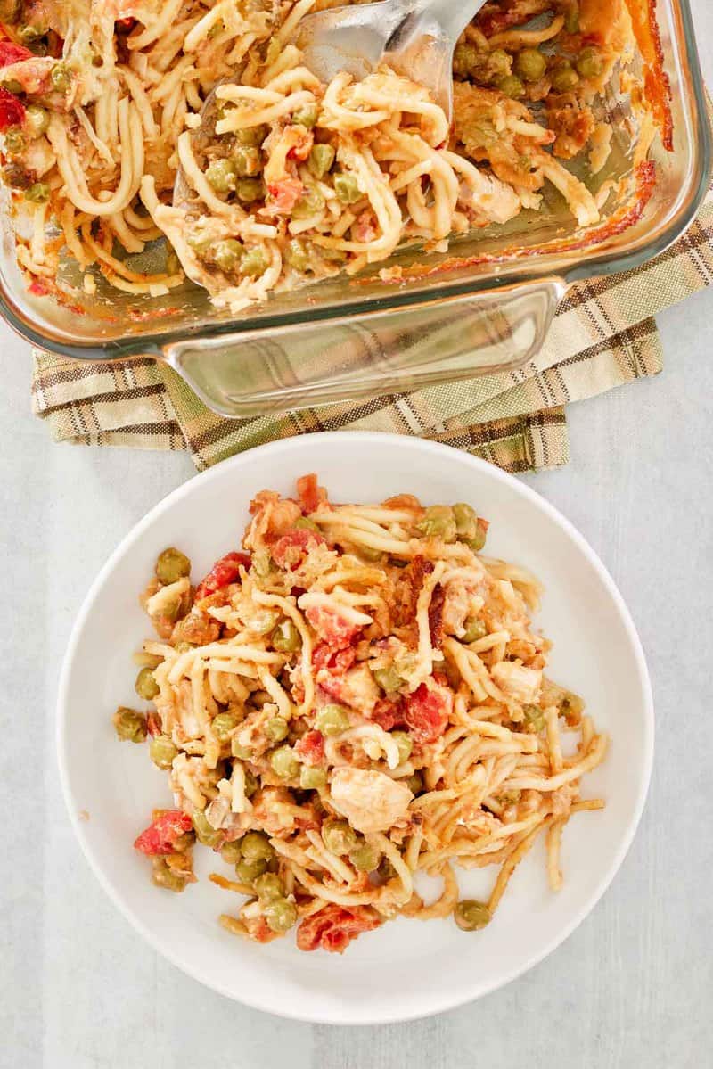
<path fill-rule="evenodd" d="M 592 108 L 633 55 L 624 0 L 486 3 L 455 50 L 452 127 L 388 67 L 321 83 L 294 42 L 326 6 L 0 0 L 2 176 L 32 217 L 17 236 L 30 286 L 57 290 L 67 254 L 136 294 L 187 274 L 237 311 L 404 243 L 443 250 L 539 207 L 547 183 L 579 226 L 598 221 L 567 164 L 608 155 Z M 158 236 L 164 270 L 122 266 Z"/>

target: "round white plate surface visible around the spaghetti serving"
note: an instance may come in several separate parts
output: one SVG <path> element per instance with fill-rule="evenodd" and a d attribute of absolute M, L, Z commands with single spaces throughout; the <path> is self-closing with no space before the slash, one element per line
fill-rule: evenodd
<path fill-rule="evenodd" d="M 149 635 L 137 595 L 156 555 L 177 545 L 199 576 L 235 548 L 250 497 L 317 471 L 335 500 L 378 501 L 399 492 L 427 503 L 465 500 L 491 521 L 487 553 L 532 569 L 546 592 L 538 622 L 554 639 L 551 675 L 584 695 L 613 745 L 587 777 L 603 812 L 567 826 L 564 886 L 547 887 L 539 842 L 517 869 L 493 923 L 475 933 L 452 919 L 399 918 L 362 935 L 343 956 L 304 954 L 291 938 L 258 946 L 230 935 L 217 916 L 242 899 L 211 884 L 222 862 L 195 854 L 198 884 L 155 888 L 134 849 L 154 806 L 170 804 L 165 773 L 145 747 L 119 743 L 118 704 L 133 704 L 131 653 Z M 498 468 L 446 446 L 383 434 L 315 434 L 234 456 L 191 479 L 154 508 L 102 570 L 79 614 L 59 701 L 59 762 L 84 853 L 107 893 L 156 950 L 190 976 L 250 1006 L 300 1020 L 381 1023 L 436 1013 L 476 998 L 541 961 L 586 917 L 619 868 L 636 830 L 653 749 L 651 688 L 641 647 L 601 561 L 546 501 Z M 81 815 L 89 815 L 89 819 Z M 224 866 L 226 874 L 228 868 Z M 482 895 L 494 871 L 464 873 Z"/>

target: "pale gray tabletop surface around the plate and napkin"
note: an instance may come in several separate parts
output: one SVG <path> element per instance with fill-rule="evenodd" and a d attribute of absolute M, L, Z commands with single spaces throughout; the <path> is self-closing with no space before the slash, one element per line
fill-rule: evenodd
<path fill-rule="evenodd" d="M 713 7 L 693 6 L 711 83 Z M 570 466 L 526 477 L 602 556 L 648 653 L 656 760 L 636 841 L 589 919 L 522 979 L 350 1029 L 204 990 L 144 945 L 79 852 L 53 743 L 69 629 L 117 542 L 193 469 L 181 453 L 53 445 L 30 414 L 28 346 L 0 324 L 3 1069 L 713 1066 L 713 293 L 658 326 L 663 375 L 574 406 Z"/>

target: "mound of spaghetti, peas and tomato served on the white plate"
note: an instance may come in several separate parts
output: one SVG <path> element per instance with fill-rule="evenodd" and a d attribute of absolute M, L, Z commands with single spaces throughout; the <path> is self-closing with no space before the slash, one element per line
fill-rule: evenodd
<path fill-rule="evenodd" d="M 464 503 L 332 505 L 306 476 L 250 513 L 196 589 L 170 548 L 142 595 L 153 710 L 114 725 L 169 773 L 174 808 L 135 843 L 154 882 L 183 890 L 198 839 L 246 897 L 228 930 L 296 927 L 300 949 L 338 951 L 399 914 L 482 928 L 540 832 L 557 890 L 564 825 L 604 804 L 580 786 L 607 739 L 544 675 L 537 580 L 481 555 L 487 524 Z M 453 866 L 490 865 L 489 899 L 459 900 Z"/>

